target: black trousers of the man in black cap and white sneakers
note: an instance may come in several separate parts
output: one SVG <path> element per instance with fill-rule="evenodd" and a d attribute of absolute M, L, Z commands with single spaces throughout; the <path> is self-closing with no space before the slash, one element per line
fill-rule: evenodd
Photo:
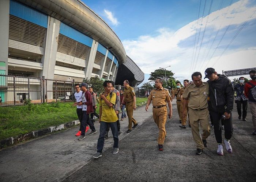
<path fill-rule="evenodd" d="M 222 143 L 221 117 L 224 113 L 210 111 L 217 143 Z M 223 120 L 225 138 L 229 140 L 233 135 L 232 113 L 230 118 Z"/>

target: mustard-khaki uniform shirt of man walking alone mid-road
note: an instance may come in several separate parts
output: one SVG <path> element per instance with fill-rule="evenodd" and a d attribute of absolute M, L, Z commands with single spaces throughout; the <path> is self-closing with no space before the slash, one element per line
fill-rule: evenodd
<path fill-rule="evenodd" d="M 162 106 L 166 105 L 166 101 L 170 101 L 170 94 L 166 88 L 161 87 L 159 90 L 157 90 L 157 88 L 154 88 L 150 92 L 148 99 L 150 100 L 150 102 L 152 100 L 152 104 L 154 107 Z"/>

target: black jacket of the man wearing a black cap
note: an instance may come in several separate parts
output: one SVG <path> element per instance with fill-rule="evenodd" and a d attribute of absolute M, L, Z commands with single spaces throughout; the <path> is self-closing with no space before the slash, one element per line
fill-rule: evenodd
<path fill-rule="evenodd" d="M 225 76 L 218 74 L 215 81 L 209 83 L 209 110 L 219 113 L 230 113 L 233 110 L 234 88 L 231 81 Z"/>

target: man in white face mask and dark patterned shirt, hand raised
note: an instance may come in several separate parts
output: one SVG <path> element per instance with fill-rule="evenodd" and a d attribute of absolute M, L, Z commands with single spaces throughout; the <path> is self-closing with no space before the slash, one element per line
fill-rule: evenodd
<path fill-rule="evenodd" d="M 248 98 L 244 95 L 244 86 L 244 77 L 240 77 L 239 83 L 234 86 L 234 91 L 237 92 L 235 102 L 237 104 L 238 119 L 241 119 L 242 116 L 243 121 L 246 121 Z M 241 111 L 241 106 L 243 107 L 243 112 Z"/>

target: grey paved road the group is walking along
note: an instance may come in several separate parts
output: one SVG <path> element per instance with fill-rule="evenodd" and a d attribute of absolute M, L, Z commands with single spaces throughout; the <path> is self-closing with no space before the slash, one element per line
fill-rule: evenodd
<path fill-rule="evenodd" d="M 249 108 L 248 108 L 249 109 Z M 98 133 L 77 141 L 77 128 L 48 135 L 0 151 L 1 181 L 255 181 L 256 137 L 248 122 L 237 119 L 234 110 L 233 154 L 216 153 L 214 131 L 202 155 L 195 155 L 191 128 L 178 127 L 176 104 L 168 120 L 164 150 L 158 151 L 158 129 L 152 112 L 138 108 L 139 127 L 126 134 L 127 119 L 121 122 L 119 153 L 112 154 L 113 138 L 105 142 L 103 155 L 96 152 Z M 96 128 L 98 124 L 96 124 Z M 98 128 L 97 128 L 98 129 Z"/>

